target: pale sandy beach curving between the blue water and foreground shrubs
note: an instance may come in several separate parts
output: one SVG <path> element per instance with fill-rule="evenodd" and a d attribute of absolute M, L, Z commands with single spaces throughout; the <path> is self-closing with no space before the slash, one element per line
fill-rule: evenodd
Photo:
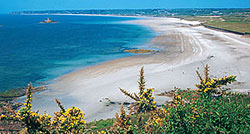
<path fill-rule="evenodd" d="M 199 22 L 176 18 L 144 17 L 125 23 L 152 28 L 159 35 L 145 45 L 160 51 L 112 60 L 57 78 L 48 85 L 51 90 L 35 94 L 34 110 L 58 111 L 54 101 L 58 98 L 65 107 L 82 109 L 87 121 L 115 117 L 120 105 L 106 106 L 105 98 L 114 102 L 131 102 L 119 87 L 137 92 L 142 66 L 146 85 L 154 87 L 155 94 L 174 87 L 195 89 L 199 82 L 195 71 L 202 71 L 206 64 L 210 65 L 212 77 L 236 75 L 238 81 L 230 87 L 250 89 L 250 38 L 207 29 L 196 26 Z M 156 96 L 157 104 L 169 99 Z"/>

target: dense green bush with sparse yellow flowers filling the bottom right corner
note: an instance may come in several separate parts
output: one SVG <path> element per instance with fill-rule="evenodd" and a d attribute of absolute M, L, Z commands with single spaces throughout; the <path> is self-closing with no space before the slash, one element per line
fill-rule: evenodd
<path fill-rule="evenodd" d="M 174 91 L 173 101 L 151 112 L 142 132 L 150 133 L 249 133 L 249 96 L 226 92 L 221 87 L 235 76 L 211 79 L 199 73 L 197 90 Z M 219 91 L 218 91 L 219 90 Z M 222 91 L 222 92 L 221 92 Z M 138 129 L 133 131 L 138 132 Z"/>

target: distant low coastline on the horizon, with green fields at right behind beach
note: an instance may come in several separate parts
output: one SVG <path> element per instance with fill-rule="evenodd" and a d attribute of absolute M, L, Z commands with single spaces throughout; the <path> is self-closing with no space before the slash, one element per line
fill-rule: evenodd
<path fill-rule="evenodd" d="M 102 9 L 102 10 L 44 10 L 16 11 L 18 15 L 118 15 L 171 17 L 199 21 L 210 29 L 249 35 L 250 8 L 175 8 L 175 9 Z"/>

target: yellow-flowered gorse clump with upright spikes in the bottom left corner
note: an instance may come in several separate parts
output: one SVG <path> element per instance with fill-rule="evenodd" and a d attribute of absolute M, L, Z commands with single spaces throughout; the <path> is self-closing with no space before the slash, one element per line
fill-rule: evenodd
<path fill-rule="evenodd" d="M 17 112 L 11 111 L 8 115 L 2 114 L 0 120 L 14 120 L 22 122 L 25 127 L 25 133 L 83 133 L 86 122 L 84 114 L 77 107 L 72 107 L 67 110 L 63 108 L 61 102 L 56 100 L 61 111 L 55 112 L 55 117 L 51 121 L 51 116 L 48 114 L 40 115 L 32 111 L 32 86 L 28 85 L 26 92 L 26 102 Z"/>

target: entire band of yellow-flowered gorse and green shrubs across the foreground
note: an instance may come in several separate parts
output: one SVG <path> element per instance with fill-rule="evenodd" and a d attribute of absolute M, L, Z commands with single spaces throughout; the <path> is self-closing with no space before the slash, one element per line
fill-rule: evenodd
<path fill-rule="evenodd" d="M 200 82 L 196 90 L 175 89 L 172 101 L 156 106 L 153 89 L 145 88 L 144 70 L 140 71 L 139 92 L 126 96 L 135 100 L 130 112 L 121 105 L 120 114 L 115 119 L 86 123 L 84 114 L 77 107 L 65 109 L 56 100 L 60 112 L 40 115 L 31 107 L 31 85 L 27 88 L 27 100 L 18 112 L 7 109 L 0 119 L 22 122 L 22 133 L 244 133 L 250 132 L 250 97 L 230 92 L 225 86 L 236 81 L 236 76 L 222 78 L 209 77 L 209 67 L 204 69 L 204 77 L 197 71 Z"/>

